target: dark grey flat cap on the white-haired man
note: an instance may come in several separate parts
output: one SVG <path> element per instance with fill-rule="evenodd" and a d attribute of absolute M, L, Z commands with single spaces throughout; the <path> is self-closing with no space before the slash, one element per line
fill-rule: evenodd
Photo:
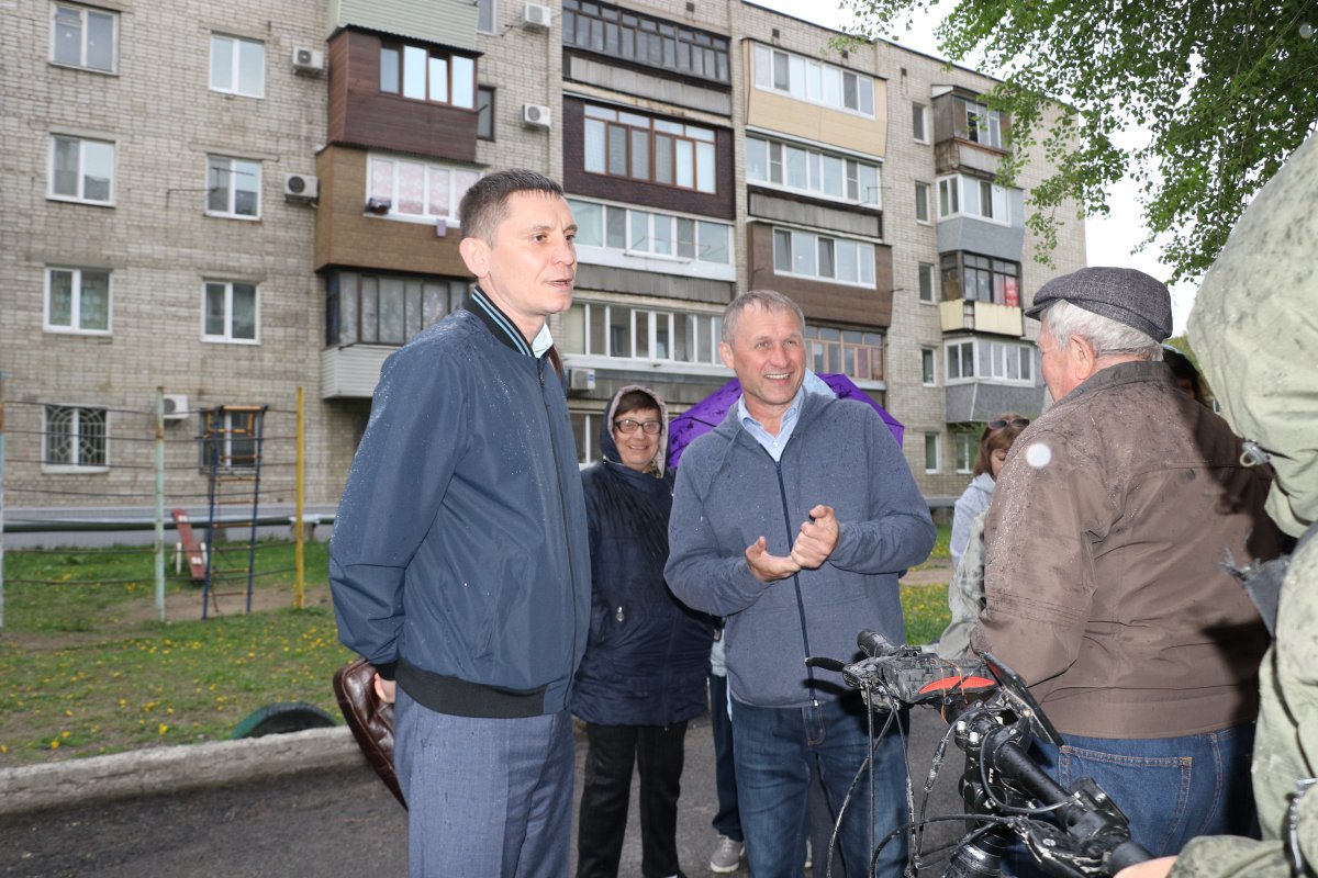
<path fill-rule="evenodd" d="M 1166 284 L 1135 269 L 1081 269 L 1045 283 L 1035 294 L 1027 317 L 1039 315 L 1058 299 L 1093 311 L 1156 341 L 1172 334 L 1172 294 Z"/>

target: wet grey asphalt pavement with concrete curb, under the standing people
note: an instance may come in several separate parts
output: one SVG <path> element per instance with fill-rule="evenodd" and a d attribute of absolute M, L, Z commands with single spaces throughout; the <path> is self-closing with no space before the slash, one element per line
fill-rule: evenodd
<path fill-rule="evenodd" d="M 917 807 L 929 754 L 944 731 L 932 711 L 912 713 L 909 750 Z M 71 767 L 63 774 L 45 779 L 26 769 L 17 770 L 26 771 L 20 781 L 16 770 L 0 773 L 0 812 L 7 812 L 0 816 L 0 875 L 402 878 L 407 874 L 405 812 L 345 736 L 341 728 L 320 729 L 162 748 L 146 757 L 99 757 L 99 763 L 79 760 L 84 767 L 67 763 Z M 584 756 L 585 742 L 579 740 L 579 794 Z M 141 770 L 130 767 L 134 760 Z M 76 777 L 79 771 L 84 777 Z M 928 816 L 960 811 L 958 771 L 954 753 L 934 785 Z M 713 874 L 708 866 L 714 842 L 713 778 L 709 723 L 701 719 L 687 735 L 679 806 L 677 844 L 688 878 Z M 182 788 L 198 782 L 220 786 Z M 42 783 L 58 790 L 51 798 L 47 788 L 46 807 L 30 810 L 42 800 Z M 635 786 L 619 875 L 641 874 Z M 28 796 L 18 812 L 16 795 Z M 927 846 L 954 839 L 960 827 L 934 825 Z M 822 878 L 822 858 L 817 860 L 820 865 L 807 874 Z M 921 873 L 941 874 L 940 864 Z M 746 875 L 745 866 L 737 874 Z"/>

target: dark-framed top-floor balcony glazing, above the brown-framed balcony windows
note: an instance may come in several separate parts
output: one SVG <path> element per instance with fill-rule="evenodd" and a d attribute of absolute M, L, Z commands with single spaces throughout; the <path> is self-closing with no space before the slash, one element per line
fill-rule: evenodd
<path fill-rule="evenodd" d="M 660 70 L 731 82 L 728 37 L 590 0 L 563 0 L 563 46 Z"/>

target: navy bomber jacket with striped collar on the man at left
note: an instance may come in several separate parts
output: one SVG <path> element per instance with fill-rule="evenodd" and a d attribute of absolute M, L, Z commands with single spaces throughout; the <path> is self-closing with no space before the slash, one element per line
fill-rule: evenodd
<path fill-rule="evenodd" d="M 434 711 L 554 713 L 589 583 L 563 386 L 477 294 L 381 371 L 330 546 L 339 638 Z"/>

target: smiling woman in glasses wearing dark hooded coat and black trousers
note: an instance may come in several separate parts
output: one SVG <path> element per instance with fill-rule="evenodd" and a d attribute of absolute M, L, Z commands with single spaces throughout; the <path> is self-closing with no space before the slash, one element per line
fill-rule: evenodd
<path fill-rule="evenodd" d="M 585 720 L 577 878 L 614 877 L 627 828 L 631 770 L 641 775 L 641 871 L 680 875 L 677 795 L 687 721 L 705 712 L 713 624 L 663 578 L 672 475 L 668 416 L 654 391 L 629 386 L 600 426 L 604 459 L 581 474 L 590 532 L 590 633 L 572 712 Z"/>

